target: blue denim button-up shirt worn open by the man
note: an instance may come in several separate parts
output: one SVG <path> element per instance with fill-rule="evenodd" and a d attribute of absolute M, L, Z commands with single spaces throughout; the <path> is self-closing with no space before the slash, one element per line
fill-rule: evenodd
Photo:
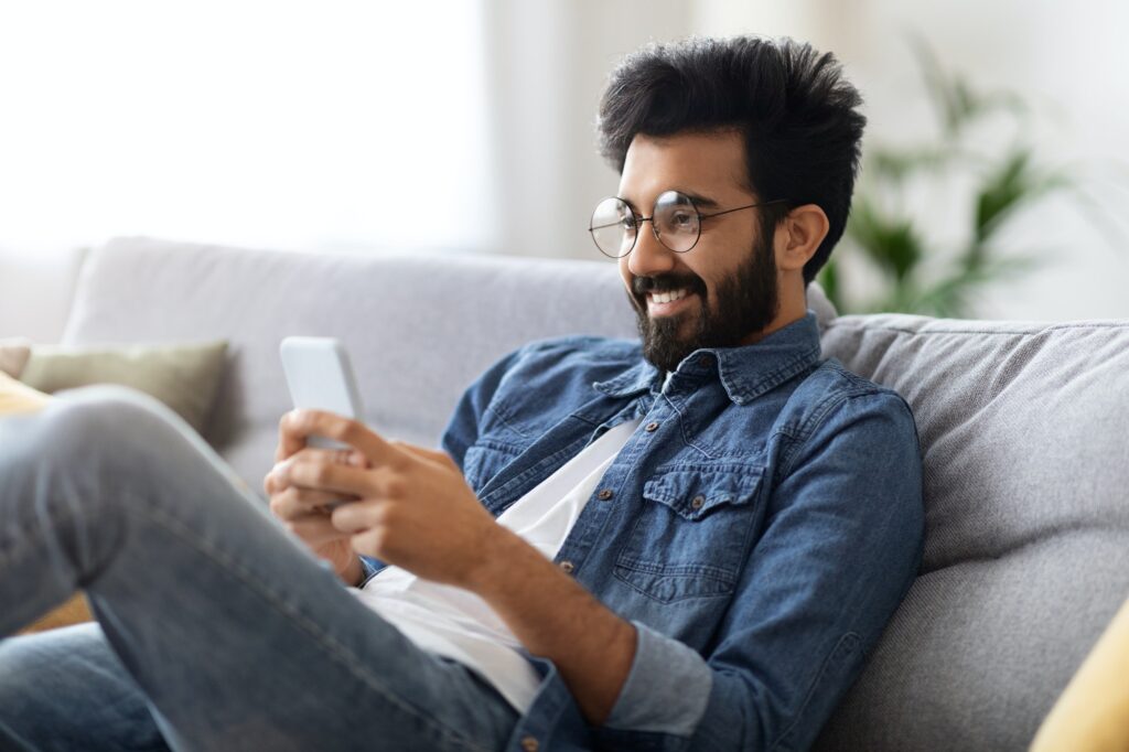
<path fill-rule="evenodd" d="M 508 749 L 807 749 L 913 582 L 912 414 L 821 361 L 813 314 L 664 377 L 637 341 L 534 342 L 467 390 L 444 435 L 497 516 L 642 418 L 555 559 L 636 627 L 627 682 L 594 727 L 530 656 L 543 681 Z"/>

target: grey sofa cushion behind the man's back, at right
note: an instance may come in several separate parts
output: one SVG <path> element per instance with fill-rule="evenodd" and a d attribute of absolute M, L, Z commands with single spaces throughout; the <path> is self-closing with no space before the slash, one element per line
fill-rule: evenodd
<path fill-rule="evenodd" d="M 843 316 L 824 355 L 898 390 L 920 576 L 819 750 L 1025 750 L 1129 593 L 1129 322 Z"/>

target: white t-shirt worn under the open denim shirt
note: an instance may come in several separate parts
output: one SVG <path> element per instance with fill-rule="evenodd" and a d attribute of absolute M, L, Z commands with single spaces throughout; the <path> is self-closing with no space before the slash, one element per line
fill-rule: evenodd
<path fill-rule="evenodd" d="M 615 455 L 641 419 L 607 430 L 498 517 L 548 559 L 557 557 L 569 531 Z M 470 591 L 421 579 L 386 567 L 353 593 L 425 650 L 454 658 L 479 672 L 524 714 L 540 676 L 506 623 Z"/>

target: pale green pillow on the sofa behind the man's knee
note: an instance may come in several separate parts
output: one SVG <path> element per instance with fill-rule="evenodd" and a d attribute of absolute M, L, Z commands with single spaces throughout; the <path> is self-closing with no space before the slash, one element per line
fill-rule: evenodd
<path fill-rule="evenodd" d="M 132 386 L 167 404 L 200 432 L 224 376 L 226 353 L 226 341 L 35 346 L 19 381 L 49 394 L 90 384 Z"/>

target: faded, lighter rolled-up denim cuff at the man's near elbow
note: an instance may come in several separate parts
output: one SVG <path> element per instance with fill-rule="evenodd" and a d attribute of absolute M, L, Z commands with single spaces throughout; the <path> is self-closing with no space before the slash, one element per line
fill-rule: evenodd
<path fill-rule="evenodd" d="M 714 672 L 682 642 L 631 623 L 638 635 L 634 659 L 604 726 L 692 736 L 706 715 Z"/>

